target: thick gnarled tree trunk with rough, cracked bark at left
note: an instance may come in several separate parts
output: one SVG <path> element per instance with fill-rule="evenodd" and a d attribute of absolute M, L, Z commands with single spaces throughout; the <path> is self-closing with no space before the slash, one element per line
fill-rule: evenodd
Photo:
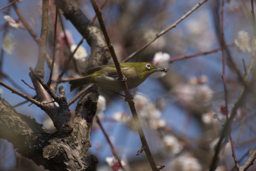
<path fill-rule="evenodd" d="M 74 24 L 91 46 L 88 65 L 84 69 L 105 65 L 111 55 L 101 30 L 93 26 L 76 1 L 62 0 L 59 3 L 63 15 Z M 37 74 L 42 75 L 38 71 Z M 48 133 L 42 124 L 17 113 L 0 97 L 0 138 L 12 142 L 18 153 L 49 170 L 97 170 L 97 157 L 88 155 L 87 151 L 91 147 L 90 131 L 97 110 L 99 88 L 93 87 L 80 98 L 76 107 L 76 118 L 72 122 L 63 87 L 59 87 L 60 94 L 55 95 L 50 87 L 33 73 L 32 68 L 30 76 L 38 90 L 39 101 L 44 104 L 42 110 L 50 116 L 58 131 Z M 49 97 L 53 98 L 59 107 L 54 105 Z M 70 127 L 65 124 L 70 124 Z"/>

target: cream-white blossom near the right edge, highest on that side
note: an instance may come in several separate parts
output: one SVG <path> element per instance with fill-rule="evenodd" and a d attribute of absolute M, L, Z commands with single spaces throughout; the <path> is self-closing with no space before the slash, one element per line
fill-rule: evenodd
<path fill-rule="evenodd" d="M 245 52 L 246 50 L 248 52 L 251 52 L 251 50 L 252 50 L 252 48 L 250 46 L 249 33 L 244 30 L 241 30 L 238 32 L 237 39 L 235 40 L 235 44 L 243 52 Z"/>

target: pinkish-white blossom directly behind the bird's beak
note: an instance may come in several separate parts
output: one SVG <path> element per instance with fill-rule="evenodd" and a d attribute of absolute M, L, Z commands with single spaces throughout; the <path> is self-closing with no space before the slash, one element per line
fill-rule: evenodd
<path fill-rule="evenodd" d="M 156 52 L 153 58 L 152 64 L 155 65 L 157 68 L 168 69 L 169 60 L 170 60 L 170 55 L 168 53 Z M 164 77 L 165 75 L 166 75 L 165 72 L 155 72 L 151 76 L 155 78 L 161 78 L 161 77 Z"/>

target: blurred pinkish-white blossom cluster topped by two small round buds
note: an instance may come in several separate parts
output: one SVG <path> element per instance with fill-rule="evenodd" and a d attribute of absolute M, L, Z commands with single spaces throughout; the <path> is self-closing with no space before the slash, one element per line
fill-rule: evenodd
<path fill-rule="evenodd" d="M 198 79 L 193 76 L 189 79 L 188 84 L 180 83 L 176 85 L 172 93 L 176 96 L 178 102 L 185 107 L 194 107 L 200 105 L 208 106 L 214 95 L 214 91 L 205 83 L 208 77 L 200 76 Z"/>

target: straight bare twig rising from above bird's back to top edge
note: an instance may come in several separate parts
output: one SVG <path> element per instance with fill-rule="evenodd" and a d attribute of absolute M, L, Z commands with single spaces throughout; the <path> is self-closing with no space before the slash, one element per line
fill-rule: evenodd
<path fill-rule="evenodd" d="M 156 36 L 151 39 L 149 42 L 147 42 L 142 48 L 136 50 L 135 52 L 133 52 L 130 56 L 128 56 L 125 60 L 123 60 L 122 62 L 127 62 L 130 59 L 132 59 L 135 55 L 137 55 L 138 53 L 142 52 L 146 47 L 148 47 L 148 45 L 150 45 L 151 43 L 153 43 L 156 39 L 158 39 L 160 36 L 164 35 L 165 33 L 167 33 L 169 30 L 175 28 L 177 26 L 177 24 L 179 24 L 182 20 L 184 20 L 186 17 L 188 17 L 192 12 L 194 12 L 197 8 L 199 8 L 202 4 L 204 4 L 205 2 L 207 2 L 208 0 L 202 0 L 199 3 L 197 3 L 192 9 L 190 9 L 188 12 L 186 12 L 182 17 L 180 17 L 177 21 L 175 21 L 172 25 L 170 25 L 169 27 L 167 27 L 166 29 L 162 30 L 160 33 L 157 33 Z"/>

